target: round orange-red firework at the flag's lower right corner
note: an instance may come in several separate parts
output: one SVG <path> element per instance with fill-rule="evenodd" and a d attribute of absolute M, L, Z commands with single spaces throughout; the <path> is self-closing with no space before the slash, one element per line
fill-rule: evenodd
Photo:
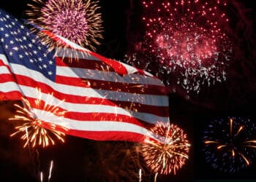
<path fill-rule="evenodd" d="M 187 134 L 174 124 L 158 122 L 151 129 L 153 135 L 159 140 L 146 138 L 141 144 L 141 152 L 148 168 L 154 173 L 176 175 L 177 171 L 189 158 L 189 141 Z"/>

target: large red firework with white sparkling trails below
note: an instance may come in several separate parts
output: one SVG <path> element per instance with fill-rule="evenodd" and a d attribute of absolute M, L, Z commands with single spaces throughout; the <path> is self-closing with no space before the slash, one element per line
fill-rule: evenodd
<path fill-rule="evenodd" d="M 143 1 L 146 33 L 138 58 L 129 62 L 186 92 L 225 81 L 233 51 L 226 6 L 219 0 Z"/>

